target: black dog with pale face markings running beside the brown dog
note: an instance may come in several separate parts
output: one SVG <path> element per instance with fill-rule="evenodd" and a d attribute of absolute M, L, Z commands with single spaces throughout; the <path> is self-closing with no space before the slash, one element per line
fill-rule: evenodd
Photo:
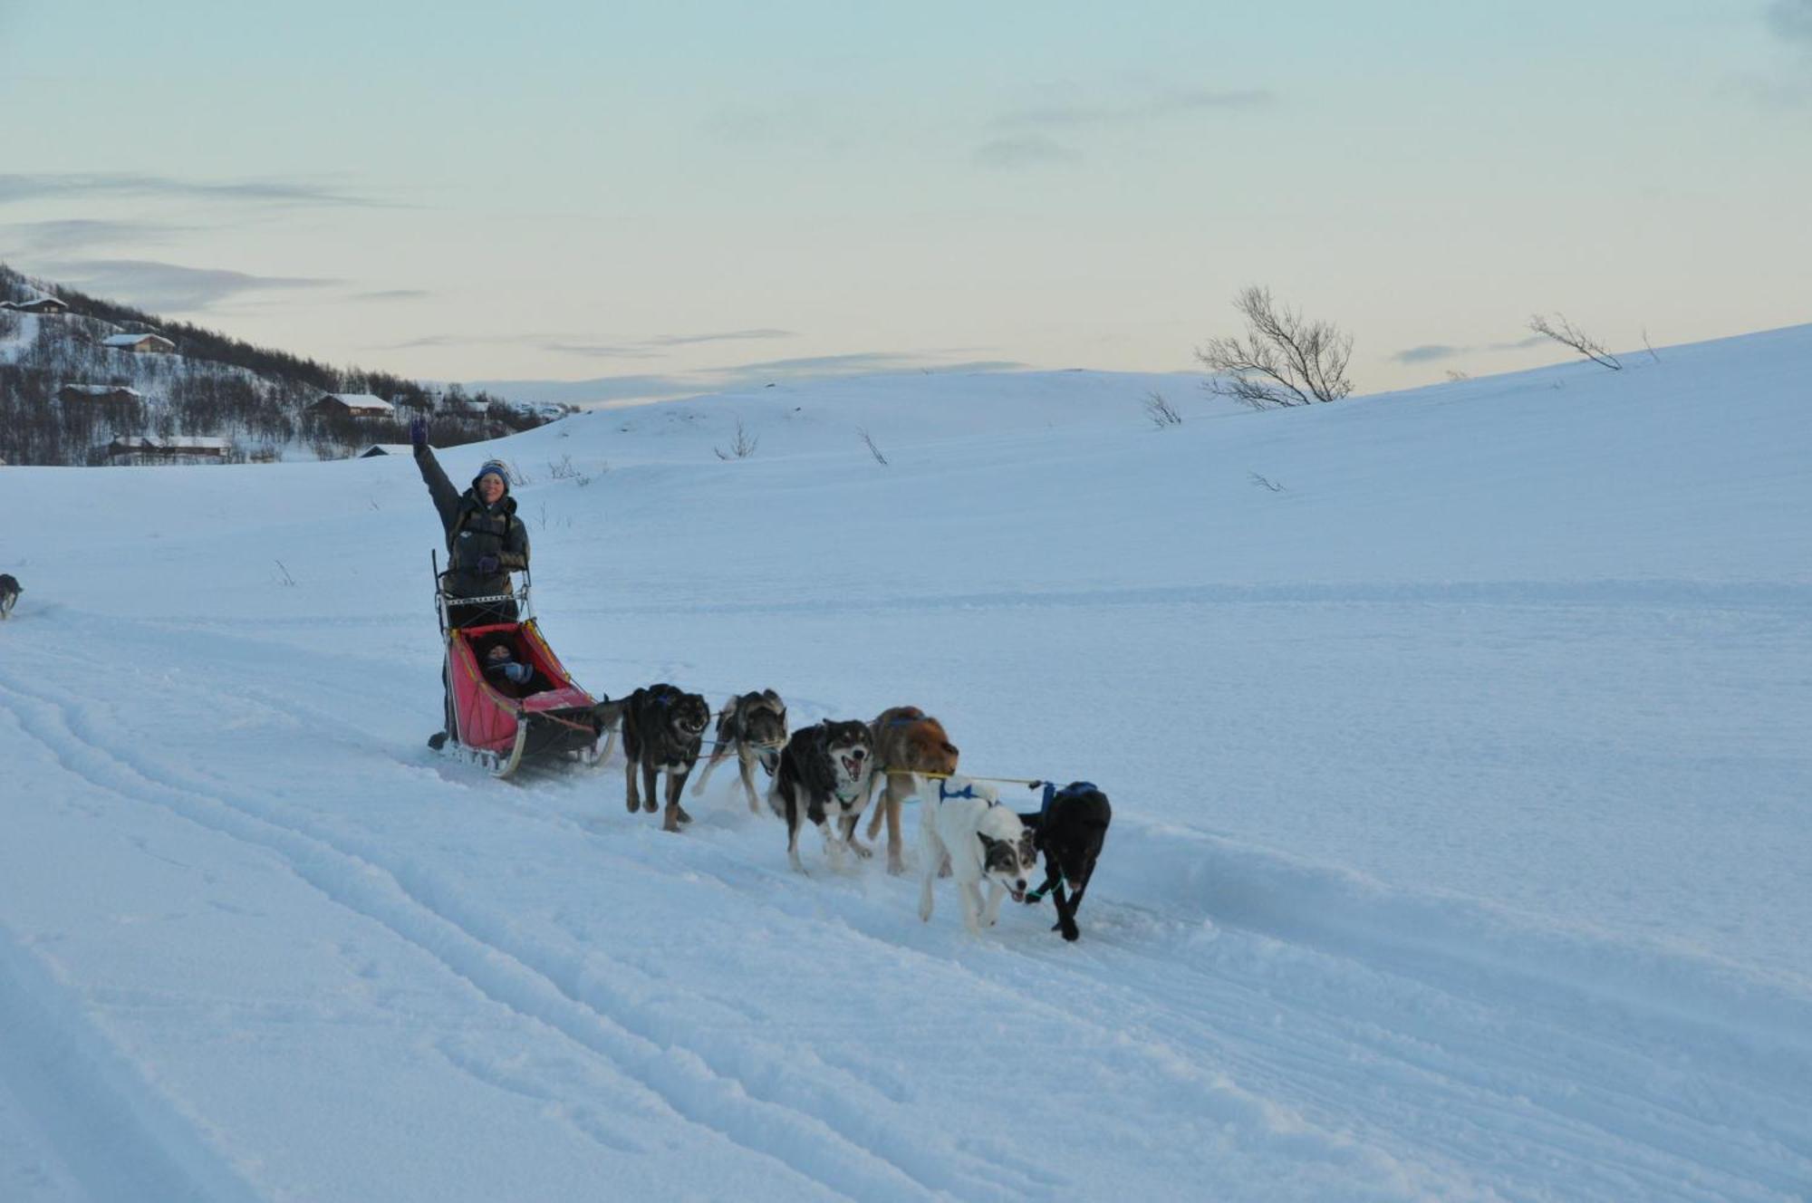
<path fill-rule="evenodd" d="M 868 804 L 875 759 L 868 723 L 824 719 L 792 734 L 781 750 L 779 768 L 768 786 L 768 806 L 786 821 L 786 861 L 805 873 L 799 861 L 799 828 L 814 823 L 824 837 L 824 857 L 834 870 L 843 868 L 843 850 L 873 855 L 855 839 L 855 824 Z"/>

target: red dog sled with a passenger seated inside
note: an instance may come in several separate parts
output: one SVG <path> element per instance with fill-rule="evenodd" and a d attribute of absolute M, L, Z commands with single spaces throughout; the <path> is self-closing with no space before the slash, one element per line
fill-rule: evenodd
<path fill-rule="evenodd" d="M 448 683 L 448 727 L 440 754 L 478 765 L 496 777 L 509 777 L 525 765 L 598 763 L 607 727 L 603 708 L 600 699 L 580 688 L 542 636 L 529 600 L 527 571 L 518 591 L 484 598 L 449 596 L 446 576 L 437 558 L 435 611 L 446 643 Z M 484 621 L 469 621 L 486 611 Z M 486 659 L 498 649 L 507 649 L 513 663 L 527 667 L 525 681 L 513 683 L 486 672 Z"/>

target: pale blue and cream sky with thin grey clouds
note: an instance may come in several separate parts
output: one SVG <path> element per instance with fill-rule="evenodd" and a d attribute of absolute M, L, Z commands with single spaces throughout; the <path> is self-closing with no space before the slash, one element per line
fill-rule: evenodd
<path fill-rule="evenodd" d="M 1812 321 L 1812 0 L 0 0 L 0 261 L 618 399 L 1181 371 L 1247 284 L 1357 391 Z"/>

